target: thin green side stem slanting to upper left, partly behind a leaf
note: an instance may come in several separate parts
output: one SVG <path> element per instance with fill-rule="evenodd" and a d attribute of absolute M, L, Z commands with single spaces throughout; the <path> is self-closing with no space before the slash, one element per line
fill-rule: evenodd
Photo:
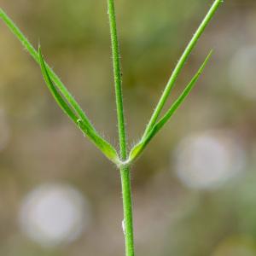
<path fill-rule="evenodd" d="M 3 9 L 0 9 L 0 19 L 4 21 L 4 23 L 9 27 L 10 31 L 14 33 L 15 37 L 19 39 L 20 43 L 25 47 L 29 54 L 32 55 L 32 58 L 35 61 L 37 61 L 40 65 L 38 51 L 34 49 L 32 44 L 20 31 L 19 27 L 15 25 L 15 22 L 4 13 Z M 89 125 L 92 129 L 94 129 L 93 125 L 91 125 L 90 120 L 84 113 L 83 109 L 79 106 L 79 103 L 75 101 L 71 93 L 61 82 L 61 79 L 58 78 L 58 76 L 53 72 L 53 70 L 49 67 L 47 63 L 45 63 L 45 67 L 47 69 L 47 72 L 49 73 L 49 77 L 53 80 L 56 87 L 61 91 L 61 94 L 66 98 L 67 102 L 70 102 L 70 105 L 72 106 L 74 111 L 79 115 L 79 118 L 82 119 L 86 125 Z"/>

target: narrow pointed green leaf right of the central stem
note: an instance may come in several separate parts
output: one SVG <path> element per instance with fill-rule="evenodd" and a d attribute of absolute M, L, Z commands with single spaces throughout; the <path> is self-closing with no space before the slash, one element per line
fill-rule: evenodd
<path fill-rule="evenodd" d="M 189 82 L 189 84 L 186 86 L 186 88 L 183 90 L 182 94 L 177 98 L 177 100 L 172 104 L 172 107 L 169 108 L 169 110 L 166 112 L 166 114 L 160 119 L 159 122 L 157 122 L 153 128 L 148 131 L 148 134 L 146 137 L 143 137 L 140 143 L 137 143 L 136 146 L 134 146 L 131 149 L 131 153 L 129 155 L 129 161 L 132 162 L 136 160 L 140 154 L 143 153 L 144 148 L 148 145 L 148 143 L 152 140 L 152 138 L 157 134 L 160 129 L 166 125 L 167 121 L 171 119 L 173 113 L 176 112 L 177 108 L 180 107 L 185 100 L 185 98 L 189 95 L 189 92 L 194 88 L 197 80 L 200 78 L 201 73 L 203 72 L 204 68 L 207 66 L 207 62 L 209 61 L 210 57 L 212 55 L 212 51 L 207 55 L 206 60 L 201 65 L 198 72 L 195 74 L 193 79 Z"/>

